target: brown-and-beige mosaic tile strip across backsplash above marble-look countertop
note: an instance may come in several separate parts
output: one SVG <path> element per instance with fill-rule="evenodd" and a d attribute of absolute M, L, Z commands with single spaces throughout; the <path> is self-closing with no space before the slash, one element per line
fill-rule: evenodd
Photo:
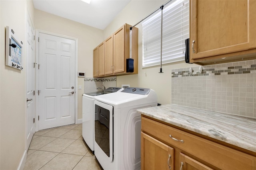
<path fill-rule="evenodd" d="M 203 68 L 204 68 L 204 66 L 203 66 Z M 256 72 L 256 64 L 251 64 L 250 67 L 244 66 L 244 68 L 243 68 L 243 66 L 207 68 L 207 69 L 203 69 L 202 73 L 200 73 L 200 72 L 194 73 L 195 70 L 198 70 L 198 67 L 192 67 L 192 70 L 193 70 L 192 74 L 190 74 L 189 68 L 180 68 L 180 69 L 172 70 L 172 78 L 188 77 L 188 76 L 209 76 L 209 75 L 210 76 L 212 76 L 212 75 L 217 76 L 217 75 L 227 75 L 227 74 L 255 73 Z"/>

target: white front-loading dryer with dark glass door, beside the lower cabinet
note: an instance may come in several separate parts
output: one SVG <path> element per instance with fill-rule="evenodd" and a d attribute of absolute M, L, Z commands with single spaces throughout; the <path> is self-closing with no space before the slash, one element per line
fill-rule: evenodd
<path fill-rule="evenodd" d="M 104 170 L 140 170 L 141 115 L 157 106 L 156 92 L 126 88 L 95 97 L 94 154 Z"/>

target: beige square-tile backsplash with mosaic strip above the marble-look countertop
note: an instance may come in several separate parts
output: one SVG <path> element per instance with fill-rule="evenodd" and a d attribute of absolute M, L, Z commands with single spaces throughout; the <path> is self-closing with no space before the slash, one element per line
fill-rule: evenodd
<path fill-rule="evenodd" d="M 172 104 L 256 118 L 256 60 L 191 68 L 172 70 Z"/>

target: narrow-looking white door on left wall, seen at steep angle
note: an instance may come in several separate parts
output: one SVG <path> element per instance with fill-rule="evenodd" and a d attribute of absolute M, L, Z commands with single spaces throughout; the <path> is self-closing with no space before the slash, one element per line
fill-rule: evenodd
<path fill-rule="evenodd" d="M 26 56 L 26 97 L 27 97 L 27 113 L 26 113 L 26 135 L 27 135 L 27 149 L 30 145 L 32 137 L 35 132 L 35 43 L 34 43 L 34 27 L 30 20 L 29 15 L 26 17 L 26 46 L 27 46 L 27 56 Z"/>

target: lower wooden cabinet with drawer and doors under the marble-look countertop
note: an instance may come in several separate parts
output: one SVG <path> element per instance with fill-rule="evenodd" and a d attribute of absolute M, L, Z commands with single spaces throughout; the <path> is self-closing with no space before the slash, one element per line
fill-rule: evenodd
<path fill-rule="evenodd" d="M 142 115 L 142 170 L 256 170 L 248 154 Z"/>

